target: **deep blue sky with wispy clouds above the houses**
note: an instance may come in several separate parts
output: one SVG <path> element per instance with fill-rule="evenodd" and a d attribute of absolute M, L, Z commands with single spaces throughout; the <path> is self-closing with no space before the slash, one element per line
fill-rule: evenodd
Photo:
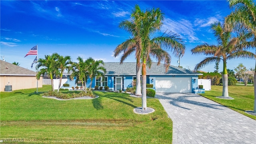
<path fill-rule="evenodd" d="M 180 35 L 186 45 L 180 65 L 190 70 L 206 56 L 192 55 L 190 50 L 207 42 L 216 44 L 210 24 L 230 14 L 228 2 L 214 1 L 2 1 L 0 2 L 0 55 L 6 62 L 19 62 L 20 66 L 31 68 L 35 56 L 24 56 L 38 45 L 38 57 L 44 58 L 54 52 L 71 56 L 72 61 L 81 56 L 92 57 L 104 62 L 119 62 L 112 56 L 114 49 L 130 37 L 118 28 L 122 20 L 130 18 L 135 4 L 142 10 L 160 8 L 164 12 L 161 35 L 166 30 Z M 255 52 L 255 51 L 252 51 Z M 171 65 L 178 66 L 172 55 Z M 2 58 L 1 58 L 2 60 Z M 134 55 L 125 62 L 136 62 Z M 254 68 L 255 60 L 236 59 L 227 62 L 227 68 L 234 69 L 239 63 Z M 213 72 L 215 64 L 203 71 Z M 222 62 L 219 72 L 222 71 Z"/>

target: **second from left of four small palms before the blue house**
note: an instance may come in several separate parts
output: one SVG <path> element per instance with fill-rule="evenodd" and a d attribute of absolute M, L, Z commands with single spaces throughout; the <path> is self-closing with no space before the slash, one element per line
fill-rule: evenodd
<path fill-rule="evenodd" d="M 65 57 L 60 56 L 57 53 L 54 53 L 54 55 L 56 55 L 56 57 L 58 58 L 56 66 L 60 72 L 60 83 L 59 83 L 58 91 L 57 91 L 57 92 L 59 92 L 60 87 L 61 87 L 63 72 L 64 72 L 64 70 L 68 70 L 68 68 L 71 64 L 71 58 L 70 58 L 70 56 L 65 56 Z"/>

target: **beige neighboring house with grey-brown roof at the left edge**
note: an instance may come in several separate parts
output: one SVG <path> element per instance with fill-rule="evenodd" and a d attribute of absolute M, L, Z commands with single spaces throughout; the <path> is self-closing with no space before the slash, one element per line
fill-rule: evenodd
<path fill-rule="evenodd" d="M 28 88 L 42 88 L 42 78 L 37 81 L 36 72 L 0 60 L 0 92 Z M 11 88 L 11 89 L 10 89 Z M 8 90 L 7 90 L 8 89 Z"/>

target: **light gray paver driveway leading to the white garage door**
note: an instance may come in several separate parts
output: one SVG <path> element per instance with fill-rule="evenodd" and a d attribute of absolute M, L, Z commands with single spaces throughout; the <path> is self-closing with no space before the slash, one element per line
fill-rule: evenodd
<path fill-rule="evenodd" d="M 156 93 L 173 122 L 173 144 L 256 144 L 256 120 L 198 94 Z"/>

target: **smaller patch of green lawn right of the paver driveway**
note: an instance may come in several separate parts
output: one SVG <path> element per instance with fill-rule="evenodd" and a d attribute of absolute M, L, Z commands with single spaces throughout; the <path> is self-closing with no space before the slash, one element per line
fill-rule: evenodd
<path fill-rule="evenodd" d="M 228 86 L 228 94 L 234 100 L 216 98 L 222 96 L 222 86 L 211 86 L 210 91 L 200 95 L 256 120 L 256 116 L 244 112 L 254 109 L 254 86 Z"/>

